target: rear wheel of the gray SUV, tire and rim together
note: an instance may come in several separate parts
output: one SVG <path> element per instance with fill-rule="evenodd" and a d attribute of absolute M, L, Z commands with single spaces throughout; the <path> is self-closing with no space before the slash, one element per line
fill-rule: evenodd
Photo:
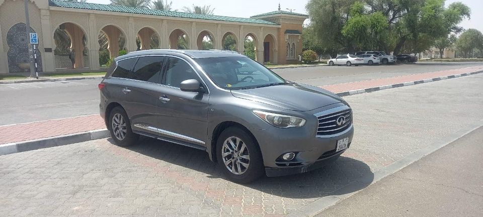
<path fill-rule="evenodd" d="M 134 145 L 139 139 L 139 135 L 132 132 L 126 111 L 120 106 L 114 107 L 110 112 L 109 132 L 116 145 L 122 147 Z"/>

